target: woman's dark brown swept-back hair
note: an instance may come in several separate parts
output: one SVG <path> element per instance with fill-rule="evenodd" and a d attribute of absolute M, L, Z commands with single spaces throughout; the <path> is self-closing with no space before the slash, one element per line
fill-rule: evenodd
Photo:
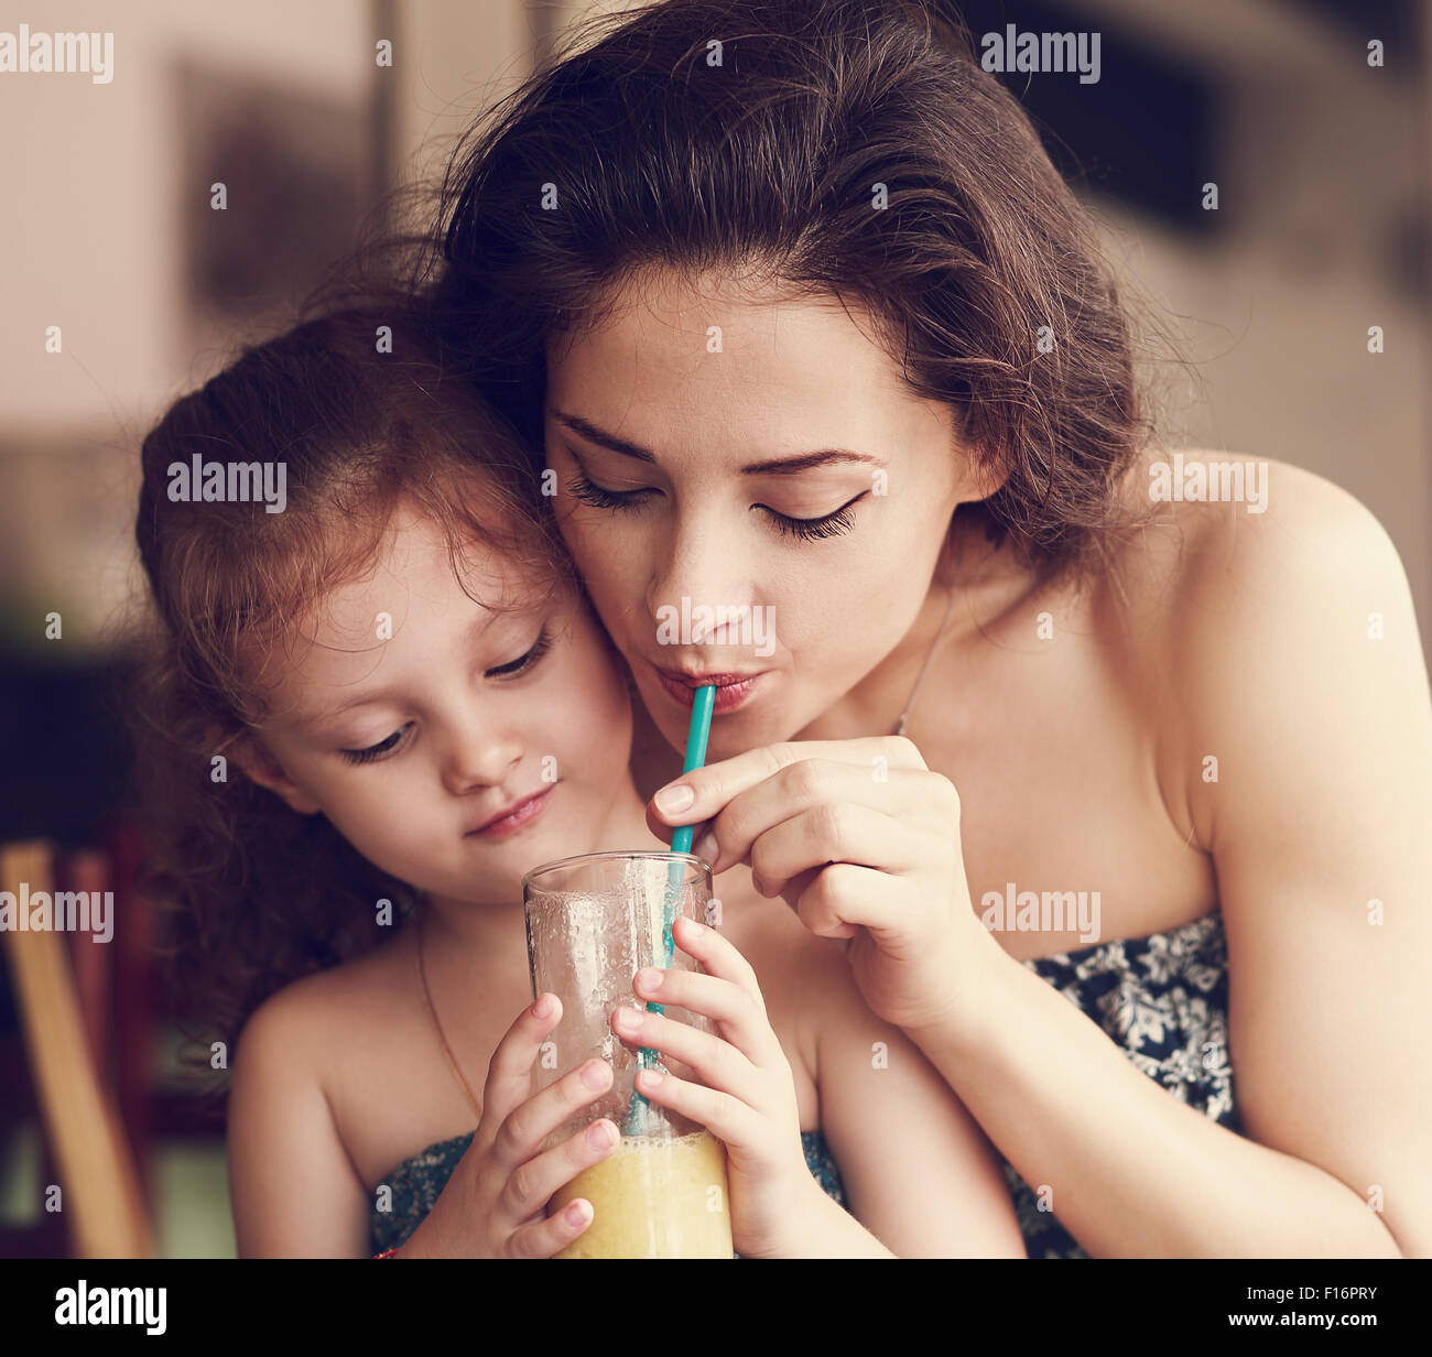
<path fill-rule="evenodd" d="M 969 34 L 914 0 L 597 16 L 454 153 L 440 299 L 540 449 L 544 341 L 650 271 L 833 295 L 1001 488 L 961 514 L 1040 575 L 1107 565 L 1153 434 L 1085 209 Z M 1042 342 L 1041 342 L 1042 341 Z"/>

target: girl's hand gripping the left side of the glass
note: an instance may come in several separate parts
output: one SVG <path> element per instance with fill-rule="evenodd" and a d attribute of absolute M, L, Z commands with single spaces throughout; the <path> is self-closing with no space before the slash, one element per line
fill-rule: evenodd
<path fill-rule="evenodd" d="M 546 1015 L 536 1009 L 546 1003 Z M 533 1062 L 561 1021 L 561 1001 L 541 995 L 493 1052 L 483 1086 L 483 1119 L 473 1144 L 412 1238 L 400 1250 L 415 1257 L 550 1258 L 591 1224 L 591 1202 L 579 1197 L 546 1218 L 547 1200 L 584 1168 L 604 1159 L 620 1134 L 606 1118 L 551 1149 L 541 1142 L 611 1084 L 611 1066 L 586 1061 L 533 1094 Z M 587 1079 L 591 1079 L 589 1084 Z"/>

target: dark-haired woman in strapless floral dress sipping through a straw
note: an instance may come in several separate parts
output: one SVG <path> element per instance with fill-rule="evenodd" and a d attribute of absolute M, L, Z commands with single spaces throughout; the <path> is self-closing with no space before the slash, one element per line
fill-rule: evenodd
<path fill-rule="evenodd" d="M 849 939 L 1031 1255 L 1432 1253 L 1396 551 L 1306 472 L 1153 451 L 1093 229 L 968 36 L 601 20 L 448 189 L 441 299 L 546 448 L 643 794 L 722 684 L 653 829 Z"/>

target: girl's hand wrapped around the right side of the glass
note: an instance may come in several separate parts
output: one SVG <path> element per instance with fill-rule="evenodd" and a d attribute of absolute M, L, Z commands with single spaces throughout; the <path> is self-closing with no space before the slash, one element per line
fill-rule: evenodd
<path fill-rule="evenodd" d="M 643 1069 L 636 1086 L 650 1102 L 700 1122 L 726 1144 L 732 1242 L 743 1257 L 779 1257 L 819 1187 L 800 1145 L 795 1078 L 766 1016 L 756 972 L 712 928 L 679 918 L 672 936 L 707 971 L 636 973 L 632 989 L 663 1008 L 677 1005 L 716 1023 L 720 1036 L 663 1013 L 617 1008 L 611 1031 L 689 1065 L 699 1084 Z"/>

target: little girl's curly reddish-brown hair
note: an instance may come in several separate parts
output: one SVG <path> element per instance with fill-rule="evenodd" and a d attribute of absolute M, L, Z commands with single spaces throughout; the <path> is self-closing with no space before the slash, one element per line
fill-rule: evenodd
<path fill-rule="evenodd" d="M 195 455 L 282 465 L 282 511 L 176 495 Z M 321 814 L 232 766 L 314 605 L 371 567 L 402 504 L 441 527 L 458 578 L 475 545 L 533 581 L 526 600 L 485 607 L 576 577 L 513 431 L 407 298 L 249 348 L 169 409 L 142 459 L 135 537 L 155 616 L 133 689 L 140 880 L 165 910 L 173 1016 L 208 1071 L 208 1042 L 232 1048 L 268 995 L 391 938 L 379 899 L 395 919 L 417 903 Z"/>

